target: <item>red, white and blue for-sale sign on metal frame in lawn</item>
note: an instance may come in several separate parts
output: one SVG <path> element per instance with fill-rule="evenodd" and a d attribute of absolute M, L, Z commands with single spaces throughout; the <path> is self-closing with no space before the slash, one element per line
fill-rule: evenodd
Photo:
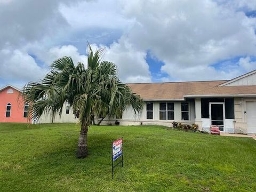
<path fill-rule="evenodd" d="M 114 168 L 122 163 L 123 167 L 123 138 L 119 138 L 113 142 L 112 144 L 112 179 L 114 179 Z M 116 165 L 114 165 L 114 162 L 119 158 L 122 157 L 121 161 L 119 161 Z"/>

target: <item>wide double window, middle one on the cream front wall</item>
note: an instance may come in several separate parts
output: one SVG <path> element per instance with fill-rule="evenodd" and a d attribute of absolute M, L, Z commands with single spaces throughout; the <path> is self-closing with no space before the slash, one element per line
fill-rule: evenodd
<path fill-rule="evenodd" d="M 174 103 L 162 102 L 159 103 L 159 119 L 160 120 L 174 120 Z"/>

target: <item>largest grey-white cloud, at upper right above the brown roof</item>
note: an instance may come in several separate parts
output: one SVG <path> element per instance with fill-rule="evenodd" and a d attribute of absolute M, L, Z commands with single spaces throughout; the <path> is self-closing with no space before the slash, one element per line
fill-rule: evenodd
<path fill-rule="evenodd" d="M 122 4 L 124 15 L 136 21 L 128 41 L 138 49 L 151 50 L 165 63 L 162 72 L 171 78 L 229 77 L 230 71 L 218 71 L 210 65 L 237 55 L 256 54 L 256 19 L 226 5 L 210 0 L 129 0 Z"/>

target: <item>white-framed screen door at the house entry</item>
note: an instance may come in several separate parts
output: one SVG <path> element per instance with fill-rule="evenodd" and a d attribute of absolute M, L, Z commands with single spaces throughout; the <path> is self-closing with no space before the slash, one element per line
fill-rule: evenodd
<path fill-rule="evenodd" d="M 220 131 L 225 131 L 225 108 L 223 102 L 210 102 L 211 125 L 217 125 Z"/>

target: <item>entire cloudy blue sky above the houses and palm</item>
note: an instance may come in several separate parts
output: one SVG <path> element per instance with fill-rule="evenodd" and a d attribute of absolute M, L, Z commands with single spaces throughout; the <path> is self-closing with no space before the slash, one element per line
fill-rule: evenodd
<path fill-rule="evenodd" d="M 256 0 L 4 0 L 0 15 L 0 86 L 39 81 L 63 56 L 86 65 L 87 42 L 105 47 L 125 83 L 256 69 Z"/>

